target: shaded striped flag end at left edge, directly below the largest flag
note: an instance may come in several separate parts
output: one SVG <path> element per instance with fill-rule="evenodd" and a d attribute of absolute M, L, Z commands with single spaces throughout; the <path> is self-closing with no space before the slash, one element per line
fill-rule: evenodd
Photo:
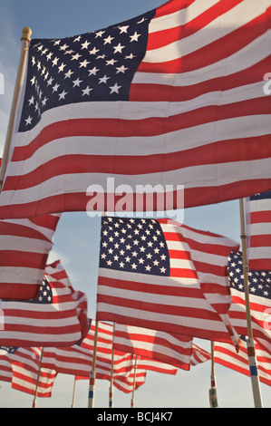
<path fill-rule="evenodd" d="M 0 299 L 38 295 L 59 218 L 0 220 Z"/>

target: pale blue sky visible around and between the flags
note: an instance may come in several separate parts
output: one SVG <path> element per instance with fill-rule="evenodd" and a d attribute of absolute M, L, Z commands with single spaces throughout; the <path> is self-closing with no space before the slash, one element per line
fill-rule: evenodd
<path fill-rule="evenodd" d="M 0 0 L 0 73 L 5 77 L 5 94 L 0 94 L 0 154 L 12 101 L 16 67 L 20 54 L 21 34 L 30 26 L 32 38 L 61 38 L 99 30 L 110 24 L 140 15 L 164 3 L 162 0 Z M 216 206 L 190 208 L 185 211 L 185 224 L 217 232 L 239 242 L 238 202 Z M 85 292 L 89 316 L 95 315 L 96 286 L 99 257 L 100 218 L 86 213 L 65 213 L 54 235 L 50 260 L 61 258 L 73 287 Z M 198 344 L 209 349 L 206 341 Z M 250 379 L 217 365 L 218 402 L 221 407 L 253 407 Z M 208 408 L 210 363 L 177 376 L 148 373 L 147 382 L 136 392 L 136 407 L 205 407 Z M 87 406 L 87 381 L 78 383 L 75 406 Z M 31 407 L 33 397 L 10 389 L 0 383 L 0 407 Z M 108 406 L 109 382 L 98 381 L 95 407 Z M 264 406 L 271 407 L 270 388 L 261 385 Z M 39 407 L 70 407 L 73 396 L 73 377 L 57 377 L 53 397 L 39 399 Z M 131 395 L 115 391 L 115 407 L 130 407 Z"/>

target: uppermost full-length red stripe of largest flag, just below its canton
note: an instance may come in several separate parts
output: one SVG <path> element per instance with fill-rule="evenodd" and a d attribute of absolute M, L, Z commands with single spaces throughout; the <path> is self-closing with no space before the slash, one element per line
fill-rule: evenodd
<path fill-rule="evenodd" d="M 152 117 L 142 120 L 76 119 L 59 121 L 45 127 L 40 132 L 39 136 L 32 140 L 27 146 L 16 147 L 12 160 L 22 161 L 29 159 L 36 150 L 46 145 L 46 143 L 67 137 L 149 137 L 166 134 L 171 131 L 189 129 L 208 122 L 229 120 L 233 117 L 268 114 L 269 112 L 270 100 L 268 96 L 266 96 L 264 98 L 226 105 L 211 105 L 169 117 Z M 67 125 L 67 123 L 69 123 L 69 125 Z M 67 156 L 63 157 L 63 159 L 66 158 Z M 115 160 L 115 157 L 110 158 L 111 161 L 113 161 L 113 159 Z M 64 160 L 59 160 L 58 167 L 59 169 L 65 169 Z"/>

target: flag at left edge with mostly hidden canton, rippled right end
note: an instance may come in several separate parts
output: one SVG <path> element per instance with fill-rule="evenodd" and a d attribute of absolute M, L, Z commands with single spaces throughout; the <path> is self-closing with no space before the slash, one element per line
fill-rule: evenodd
<path fill-rule="evenodd" d="M 59 272 L 59 264 L 56 265 Z M 81 341 L 88 330 L 86 295 L 65 286 L 45 269 L 39 295 L 27 302 L 0 301 L 4 316 L 0 342 L 6 346 L 67 346 Z"/>

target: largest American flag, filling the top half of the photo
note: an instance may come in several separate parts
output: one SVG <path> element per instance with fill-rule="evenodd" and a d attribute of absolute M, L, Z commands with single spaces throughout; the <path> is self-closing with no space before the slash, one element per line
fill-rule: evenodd
<path fill-rule="evenodd" d="M 172 208 L 182 185 L 185 207 L 270 189 L 268 12 L 255 0 L 170 0 L 102 30 L 32 40 L 0 218 L 112 211 L 123 183 L 131 202 L 160 184 Z"/>

